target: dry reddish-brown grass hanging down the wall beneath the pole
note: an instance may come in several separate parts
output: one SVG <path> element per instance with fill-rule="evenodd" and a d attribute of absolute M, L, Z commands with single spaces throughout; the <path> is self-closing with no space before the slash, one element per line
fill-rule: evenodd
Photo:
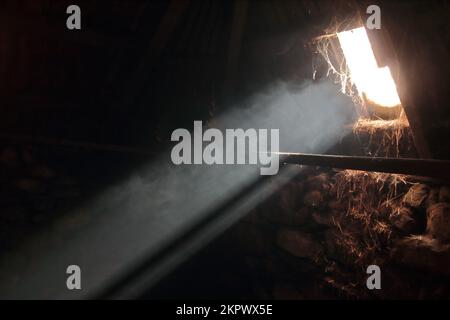
<path fill-rule="evenodd" d="M 407 176 L 343 170 L 334 177 L 332 192 L 344 206 L 335 221 L 337 245 L 356 263 L 373 262 L 389 242 L 389 215 L 401 206 L 411 182 Z"/>

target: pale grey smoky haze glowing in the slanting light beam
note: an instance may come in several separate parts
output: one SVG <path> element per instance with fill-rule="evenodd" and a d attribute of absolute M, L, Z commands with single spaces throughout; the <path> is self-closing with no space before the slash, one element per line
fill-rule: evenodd
<path fill-rule="evenodd" d="M 231 108 L 211 126 L 276 128 L 280 151 L 323 153 L 345 134 L 352 116 L 351 99 L 329 82 L 279 83 Z M 137 266 L 130 261 L 156 253 L 259 178 L 254 165 L 175 166 L 169 149 L 82 208 L 90 218 L 83 229 L 58 236 L 56 230 L 43 233 L 24 245 L 20 256 L 6 255 L 0 262 L 0 292 L 9 292 L 9 298 L 36 297 L 42 279 L 47 281 L 42 298 L 79 298 L 101 291 Z M 61 270 L 70 264 L 83 272 L 79 292 L 62 285 L 66 275 Z"/>

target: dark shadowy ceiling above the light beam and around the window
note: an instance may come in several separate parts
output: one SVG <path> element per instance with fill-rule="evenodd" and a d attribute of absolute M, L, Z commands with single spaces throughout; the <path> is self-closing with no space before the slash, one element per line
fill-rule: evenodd
<path fill-rule="evenodd" d="M 448 1 L 376 1 L 422 156 L 448 158 Z M 310 41 L 355 1 L 71 1 L 0 4 L 0 133 L 164 145 L 277 80 L 312 76 Z M 377 37 L 375 36 L 374 39 Z M 383 42 L 385 43 L 385 42 Z M 391 54 L 387 53 L 388 55 Z M 386 54 L 386 53 L 384 53 Z"/>

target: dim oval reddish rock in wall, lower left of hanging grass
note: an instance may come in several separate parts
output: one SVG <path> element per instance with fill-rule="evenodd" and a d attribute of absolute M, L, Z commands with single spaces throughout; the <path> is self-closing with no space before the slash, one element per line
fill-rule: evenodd
<path fill-rule="evenodd" d="M 311 234 L 289 229 L 278 232 L 277 244 L 290 254 L 300 258 L 313 258 L 322 249 Z"/>

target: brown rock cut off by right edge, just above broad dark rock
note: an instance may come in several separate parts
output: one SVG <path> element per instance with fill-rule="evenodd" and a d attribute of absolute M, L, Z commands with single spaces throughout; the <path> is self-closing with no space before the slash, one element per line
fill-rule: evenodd
<path fill-rule="evenodd" d="M 443 243 L 450 242 L 450 203 L 439 202 L 427 209 L 427 231 Z"/>

